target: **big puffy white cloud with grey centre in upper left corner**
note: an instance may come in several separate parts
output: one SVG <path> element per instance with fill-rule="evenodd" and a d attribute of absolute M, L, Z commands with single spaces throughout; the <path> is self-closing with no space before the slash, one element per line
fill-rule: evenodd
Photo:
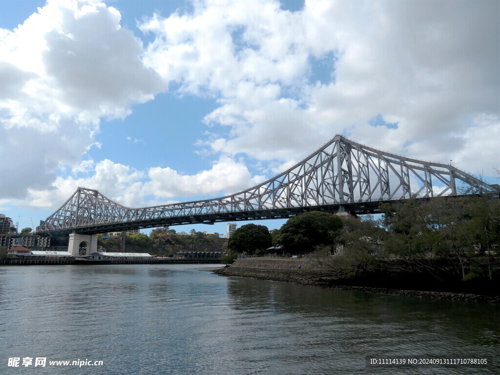
<path fill-rule="evenodd" d="M 124 117 L 164 89 L 119 21 L 103 3 L 50 0 L 14 30 L 0 29 L 2 197 L 49 187 L 58 166 L 99 146 L 100 118 Z"/>

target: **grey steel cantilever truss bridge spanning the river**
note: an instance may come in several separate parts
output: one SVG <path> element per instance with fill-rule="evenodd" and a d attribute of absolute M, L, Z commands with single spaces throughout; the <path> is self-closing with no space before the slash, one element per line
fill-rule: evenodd
<path fill-rule="evenodd" d="M 336 135 L 288 170 L 219 198 L 129 208 L 78 187 L 37 229 L 45 235 L 95 234 L 136 228 L 288 218 L 304 211 L 377 212 L 381 201 L 498 193 L 450 164 L 381 151 Z"/>

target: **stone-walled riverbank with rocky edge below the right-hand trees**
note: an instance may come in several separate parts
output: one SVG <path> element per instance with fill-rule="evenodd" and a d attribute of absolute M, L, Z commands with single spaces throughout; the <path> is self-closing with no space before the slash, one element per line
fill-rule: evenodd
<path fill-rule="evenodd" d="M 221 276 L 240 276 L 263 280 L 289 282 L 296 285 L 316 286 L 342 290 L 355 290 L 387 295 L 419 298 L 438 298 L 470 302 L 500 303 L 498 295 L 483 295 L 444 290 L 418 290 L 416 288 L 373 286 L 368 280 L 338 280 L 311 259 L 236 259 L 228 267 L 216 269 Z"/>

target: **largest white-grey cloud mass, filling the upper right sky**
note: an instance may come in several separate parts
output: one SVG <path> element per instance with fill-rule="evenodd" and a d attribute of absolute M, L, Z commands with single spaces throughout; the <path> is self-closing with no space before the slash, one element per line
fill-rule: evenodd
<path fill-rule="evenodd" d="M 465 149 L 484 153 L 484 144 L 465 144 L 469 128 L 500 114 L 499 7 L 311 0 L 290 13 L 277 1 L 205 1 L 141 27 L 156 35 L 147 64 L 183 92 L 218 98 L 205 122 L 230 130 L 198 142 L 213 153 L 289 164 L 345 133 L 446 161 Z M 331 59 L 333 81 L 308 82 L 312 57 Z M 398 127 L 370 126 L 378 114 Z M 498 147 L 486 153 L 498 159 Z"/>

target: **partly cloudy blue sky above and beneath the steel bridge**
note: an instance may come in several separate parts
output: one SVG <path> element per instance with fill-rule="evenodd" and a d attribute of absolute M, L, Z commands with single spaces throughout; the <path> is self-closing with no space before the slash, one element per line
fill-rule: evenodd
<path fill-rule="evenodd" d="M 498 183 L 499 14 L 480 0 L 0 0 L 0 213 L 36 226 L 78 186 L 129 207 L 235 193 L 335 134 Z M 191 228 L 225 223 L 174 227 Z"/>

